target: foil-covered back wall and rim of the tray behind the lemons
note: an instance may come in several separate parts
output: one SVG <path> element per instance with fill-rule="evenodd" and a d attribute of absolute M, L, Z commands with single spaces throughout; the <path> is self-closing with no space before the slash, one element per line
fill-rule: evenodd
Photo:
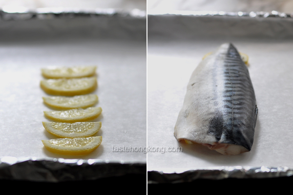
<path fill-rule="evenodd" d="M 47 9 L 0 11 L 0 40 L 95 36 L 146 41 L 146 12 L 117 9 Z M 13 38 L 12 38 L 13 37 Z"/>

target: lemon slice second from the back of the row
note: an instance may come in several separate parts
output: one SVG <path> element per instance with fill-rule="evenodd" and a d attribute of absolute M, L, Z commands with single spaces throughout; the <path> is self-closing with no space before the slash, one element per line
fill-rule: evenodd
<path fill-rule="evenodd" d="M 97 78 L 59 78 L 41 81 L 41 88 L 47 93 L 56 96 L 78 96 L 89 94 L 97 87 Z"/>

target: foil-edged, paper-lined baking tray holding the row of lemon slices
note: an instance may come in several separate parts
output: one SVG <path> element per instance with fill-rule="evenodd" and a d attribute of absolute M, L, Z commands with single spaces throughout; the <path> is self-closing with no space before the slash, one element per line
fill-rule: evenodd
<path fill-rule="evenodd" d="M 0 18 L 0 179 L 146 175 L 146 13 L 37 9 Z M 56 155 L 41 141 L 57 138 L 42 127 L 51 108 L 41 68 L 80 65 L 97 66 L 103 142 L 87 156 Z"/>

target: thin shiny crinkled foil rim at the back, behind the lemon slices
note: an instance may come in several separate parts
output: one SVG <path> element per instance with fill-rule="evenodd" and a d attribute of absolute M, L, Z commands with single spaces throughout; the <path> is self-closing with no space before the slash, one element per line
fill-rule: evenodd
<path fill-rule="evenodd" d="M 76 17 L 131 17 L 146 18 L 146 11 L 133 9 L 72 9 L 72 8 L 37 8 L 21 10 L 16 8 L 10 10 L 0 9 L 0 20 L 49 20 L 59 18 L 76 18 Z"/>

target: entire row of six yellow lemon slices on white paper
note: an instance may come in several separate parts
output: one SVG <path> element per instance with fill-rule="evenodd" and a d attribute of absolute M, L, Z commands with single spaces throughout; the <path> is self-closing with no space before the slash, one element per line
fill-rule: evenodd
<path fill-rule="evenodd" d="M 43 102 L 55 109 L 44 111 L 44 115 L 56 121 L 42 124 L 47 132 L 60 137 L 42 140 L 48 151 L 85 155 L 100 146 L 102 136 L 94 135 L 101 129 L 102 123 L 87 122 L 99 117 L 102 112 L 101 107 L 92 107 L 98 102 L 98 96 L 89 94 L 97 87 L 95 71 L 95 66 L 42 69 L 42 76 L 46 79 L 41 81 L 41 88 L 47 94 L 55 95 L 43 97 Z"/>

